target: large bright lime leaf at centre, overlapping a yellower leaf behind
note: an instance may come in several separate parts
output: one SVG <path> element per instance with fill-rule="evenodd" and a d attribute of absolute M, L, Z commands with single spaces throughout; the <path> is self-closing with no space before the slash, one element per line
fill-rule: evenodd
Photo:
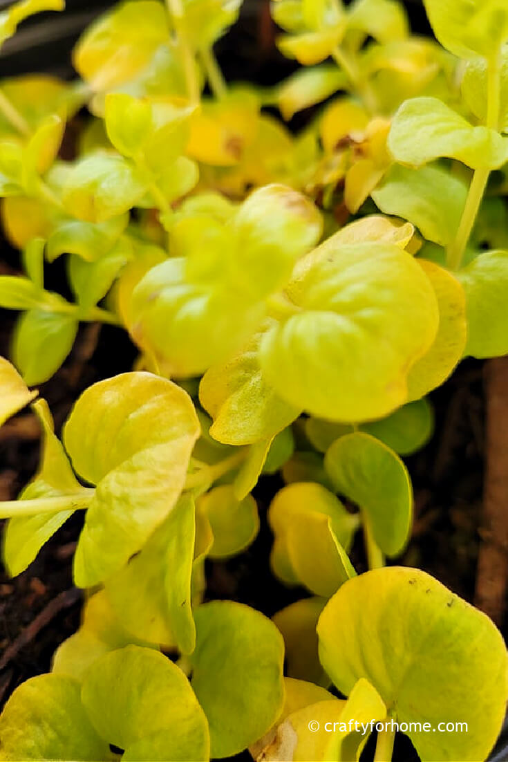
<path fill-rule="evenodd" d="M 381 418 L 405 401 L 411 365 L 437 331 L 436 296 L 411 255 L 385 243 L 336 245 L 301 260 L 288 296 L 298 314 L 264 335 L 276 392 L 337 421 Z"/>

